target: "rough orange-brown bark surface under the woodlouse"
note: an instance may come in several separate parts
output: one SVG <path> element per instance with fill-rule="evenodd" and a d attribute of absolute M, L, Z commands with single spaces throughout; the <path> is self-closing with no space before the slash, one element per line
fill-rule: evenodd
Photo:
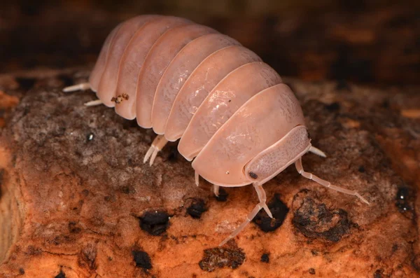
<path fill-rule="evenodd" d="M 370 206 L 288 167 L 264 186 L 276 221 L 260 211 L 219 249 L 258 202 L 252 186 L 216 199 L 176 144 L 144 165 L 151 130 L 61 92 L 87 74 L 0 77 L 0 277 L 419 276 L 415 88 L 286 80 L 328 155 L 304 168 Z"/>

